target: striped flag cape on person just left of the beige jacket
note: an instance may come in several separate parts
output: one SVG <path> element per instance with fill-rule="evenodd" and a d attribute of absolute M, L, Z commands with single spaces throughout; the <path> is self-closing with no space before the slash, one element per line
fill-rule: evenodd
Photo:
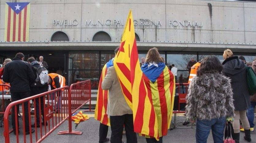
<path fill-rule="evenodd" d="M 104 80 L 108 68 L 110 66 L 113 66 L 113 59 L 109 60 L 108 63 L 106 63 L 102 69 L 101 72 L 101 78 L 99 81 L 99 88 L 98 88 L 98 93 L 97 93 L 97 103 L 96 103 L 96 108 L 95 108 L 95 113 L 94 113 L 94 118 L 98 121 L 100 121 L 104 125 L 110 126 L 110 120 L 107 115 L 107 105 L 108 105 L 108 95 L 109 91 L 108 90 L 102 90 L 101 84 L 102 81 Z"/>

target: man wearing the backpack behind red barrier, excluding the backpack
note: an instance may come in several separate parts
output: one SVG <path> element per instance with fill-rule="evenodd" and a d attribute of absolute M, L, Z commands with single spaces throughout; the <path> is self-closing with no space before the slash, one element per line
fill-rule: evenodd
<path fill-rule="evenodd" d="M 30 57 L 27 62 L 31 65 L 32 70 L 34 72 L 34 75 L 37 77 L 37 73 L 36 70 L 38 67 L 40 67 L 39 63 L 32 57 Z M 45 84 L 43 86 L 35 86 L 35 82 L 33 82 L 30 85 L 30 95 L 37 95 L 40 93 L 44 93 L 48 91 L 48 84 Z M 39 114 L 39 104 L 41 106 L 41 116 L 43 116 L 42 118 L 42 122 L 40 122 L 40 114 Z M 40 103 L 39 103 L 39 98 L 36 98 L 36 127 L 40 127 L 40 123 L 44 126 L 44 97 L 40 97 Z M 47 126 L 48 123 L 46 122 L 45 125 Z M 32 124 L 31 127 L 35 127 L 35 124 Z"/>

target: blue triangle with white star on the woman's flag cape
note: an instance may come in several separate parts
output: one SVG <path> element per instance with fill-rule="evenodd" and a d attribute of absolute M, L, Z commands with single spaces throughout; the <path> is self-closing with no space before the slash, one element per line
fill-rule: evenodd
<path fill-rule="evenodd" d="M 160 74 L 163 72 L 163 70 L 165 68 L 165 64 L 164 63 L 158 63 L 156 65 L 152 64 L 150 66 L 149 63 L 145 63 L 143 66 L 141 66 L 142 72 L 153 83 L 156 81 L 156 79 L 160 76 Z"/>

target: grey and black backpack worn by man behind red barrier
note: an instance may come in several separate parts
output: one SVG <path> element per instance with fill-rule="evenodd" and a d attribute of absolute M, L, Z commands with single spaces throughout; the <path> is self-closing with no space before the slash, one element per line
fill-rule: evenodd
<path fill-rule="evenodd" d="M 32 84 L 34 87 L 42 87 L 49 82 L 48 70 L 44 66 L 35 67 L 36 70 L 36 80 Z"/>

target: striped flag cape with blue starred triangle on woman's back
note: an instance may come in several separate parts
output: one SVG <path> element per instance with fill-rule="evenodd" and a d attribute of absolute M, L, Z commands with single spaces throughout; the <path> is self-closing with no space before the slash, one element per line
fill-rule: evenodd
<path fill-rule="evenodd" d="M 153 105 L 150 115 L 152 120 L 149 120 L 149 124 L 157 125 L 158 137 L 162 137 L 167 135 L 170 128 L 174 106 L 175 78 L 164 63 L 146 63 L 141 69 L 147 87 L 147 96 Z M 143 106 L 143 104 L 139 104 L 139 106 Z M 146 137 L 149 136 L 146 135 Z"/>

